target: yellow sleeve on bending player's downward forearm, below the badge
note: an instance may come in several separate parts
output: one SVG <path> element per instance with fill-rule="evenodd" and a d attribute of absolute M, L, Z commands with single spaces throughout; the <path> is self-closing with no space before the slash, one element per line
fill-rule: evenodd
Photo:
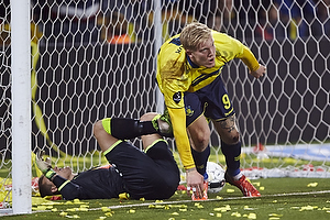
<path fill-rule="evenodd" d="M 167 108 L 173 125 L 173 134 L 175 138 L 177 151 L 185 169 L 195 167 L 194 158 L 191 155 L 190 143 L 186 130 L 186 111 L 185 108 L 174 109 Z"/>

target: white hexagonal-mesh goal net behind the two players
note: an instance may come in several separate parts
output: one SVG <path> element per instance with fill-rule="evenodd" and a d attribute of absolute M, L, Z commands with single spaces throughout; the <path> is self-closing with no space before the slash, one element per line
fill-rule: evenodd
<path fill-rule="evenodd" d="M 255 80 L 234 59 L 221 74 L 237 111 L 244 173 L 329 177 L 329 2 L 285 2 L 32 0 L 32 152 L 44 150 L 54 165 L 75 172 L 107 163 L 92 124 L 162 109 L 155 82 L 160 42 L 199 21 L 240 40 L 267 67 Z M 9 0 L 0 6 L 2 207 L 11 198 L 10 9 Z M 210 161 L 224 164 L 210 128 Z"/>

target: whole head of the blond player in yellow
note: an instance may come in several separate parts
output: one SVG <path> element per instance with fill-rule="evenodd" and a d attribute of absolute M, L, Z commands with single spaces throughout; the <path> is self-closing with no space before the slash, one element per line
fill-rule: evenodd
<path fill-rule="evenodd" d="M 216 46 L 212 31 L 205 24 L 188 24 L 180 34 L 180 42 L 188 57 L 198 66 L 216 65 Z"/>

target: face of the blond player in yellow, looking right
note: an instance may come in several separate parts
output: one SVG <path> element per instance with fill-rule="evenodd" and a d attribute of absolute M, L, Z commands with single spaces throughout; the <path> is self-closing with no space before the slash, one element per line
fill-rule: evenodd
<path fill-rule="evenodd" d="M 187 51 L 189 58 L 198 66 L 211 68 L 216 65 L 216 46 L 213 37 L 199 44 L 196 51 Z"/>

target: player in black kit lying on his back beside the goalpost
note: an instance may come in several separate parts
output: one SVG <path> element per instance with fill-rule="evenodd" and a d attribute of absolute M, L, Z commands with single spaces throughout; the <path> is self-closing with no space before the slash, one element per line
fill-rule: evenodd
<path fill-rule="evenodd" d="M 144 114 L 141 117 L 141 123 L 152 121 L 155 116 Z M 124 130 L 117 128 L 110 118 L 95 123 L 94 134 L 112 165 L 109 168 L 94 168 L 74 174 L 69 167 L 52 168 L 50 161 L 43 161 L 37 153 L 36 165 L 44 174 L 38 183 L 41 196 L 61 194 L 67 200 L 110 199 L 118 198 L 123 193 L 132 199 L 154 200 L 172 197 L 180 176 L 167 142 L 160 134 L 144 135 L 144 153 L 131 143 L 111 135 L 118 132 L 134 133 L 133 131 L 132 127 L 125 127 Z"/>

